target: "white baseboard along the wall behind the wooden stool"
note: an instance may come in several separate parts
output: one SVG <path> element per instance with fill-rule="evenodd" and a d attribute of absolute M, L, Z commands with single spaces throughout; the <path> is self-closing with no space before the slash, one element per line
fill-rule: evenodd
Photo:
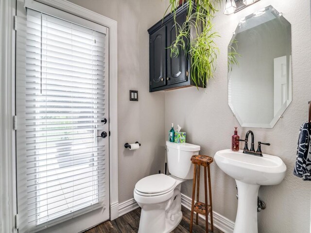
<path fill-rule="evenodd" d="M 181 194 L 181 205 L 186 207 L 188 210 L 191 210 L 191 198 L 184 194 Z M 205 220 L 205 216 L 199 216 Z M 230 219 L 213 211 L 213 220 L 214 226 L 217 227 L 219 230 L 223 231 L 224 233 L 233 233 L 234 222 Z M 209 216 L 208 222 L 210 222 Z"/>

